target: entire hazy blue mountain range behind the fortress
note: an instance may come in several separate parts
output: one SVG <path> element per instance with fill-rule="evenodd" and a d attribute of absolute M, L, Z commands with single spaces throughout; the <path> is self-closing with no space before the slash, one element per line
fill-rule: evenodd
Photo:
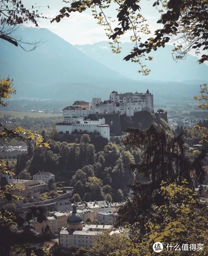
<path fill-rule="evenodd" d="M 171 46 L 154 52 L 154 60 L 147 63 L 152 73 L 145 77 L 136 72 L 138 66 L 122 61 L 131 43 L 124 43 L 123 53 L 116 55 L 111 53 L 107 42 L 73 46 L 47 29 L 23 27 L 16 33 L 25 41 L 42 39 L 45 43 L 26 52 L 0 40 L 0 78 L 9 75 L 14 79 L 15 97 L 70 102 L 88 101 L 96 95 L 104 100 L 112 90 L 144 92 L 149 88 L 155 102 L 183 101 L 192 99 L 199 91 L 199 84 L 208 81 L 208 66 L 199 65 L 197 58 L 190 55 L 175 63 Z M 178 82 L 183 80 L 186 81 Z"/>

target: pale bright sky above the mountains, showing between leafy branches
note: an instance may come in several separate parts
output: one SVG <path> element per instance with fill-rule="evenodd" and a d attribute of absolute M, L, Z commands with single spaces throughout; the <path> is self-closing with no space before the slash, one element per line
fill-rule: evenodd
<path fill-rule="evenodd" d="M 148 19 L 150 30 L 153 32 L 159 27 L 156 24 L 157 17 L 159 17 L 158 11 L 155 7 L 152 7 L 155 0 L 143 0 L 141 1 L 142 15 Z M 47 17 L 54 18 L 59 10 L 66 6 L 62 0 L 23 0 L 25 7 L 42 6 L 40 10 L 47 14 Z M 48 6 L 49 5 L 49 9 Z M 115 8 L 108 10 L 108 15 L 113 17 L 117 14 Z M 50 23 L 49 20 L 40 20 L 41 28 L 47 28 L 53 33 L 59 35 L 64 40 L 71 44 L 93 44 L 99 41 L 107 41 L 108 38 L 105 35 L 104 28 L 97 24 L 97 20 L 93 18 L 90 11 L 84 13 L 72 13 L 70 18 L 61 20 L 59 23 Z M 115 24 L 116 27 L 116 24 Z M 126 33 L 122 36 L 122 42 L 130 41 L 130 33 Z M 148 35 L 150 37 L 150 35 Z"/>

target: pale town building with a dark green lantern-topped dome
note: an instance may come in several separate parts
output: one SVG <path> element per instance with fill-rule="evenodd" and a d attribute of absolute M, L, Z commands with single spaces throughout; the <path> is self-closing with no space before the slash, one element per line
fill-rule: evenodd
<path fill-rule="evenodd" d="M 72 213 L 67 218 L 67 227 L 62 228 L 59 233 L 61 248 L 70 246 L 91 248 L 93 236 L 100 233 L 102 229 L 113 228 L 111 225 L 83 225 L 83 219 L 77 213 L 76 205 L 73 205 L 72 209 Z"/>

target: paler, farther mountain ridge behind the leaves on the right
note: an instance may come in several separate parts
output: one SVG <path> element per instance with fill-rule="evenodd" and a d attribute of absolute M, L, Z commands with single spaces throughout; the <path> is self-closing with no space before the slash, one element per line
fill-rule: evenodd
<path fill-rule="evenodd" d="M 121 53 L 112 53 L 110 45 L 106 41 L 95 43 L 92 45 L 75 45 L 77 49 L 90 56 L 96 61 L 108 66 L 110 69 L 125 75 L 134 80 L 143 80 L 144 76 L 137 73 L 140 69 L 131 61 L 123 61 L 123 58 L 130 53 L 134 47 L 134 43 L 122 43 Z M 152 61 L 145 61 L 147 68 L 151 69 L 150 74 L 146 77 L 147 80 L 154 81 L 176 81 L 183 80 L 208 80 L 208 66 L 205 64 L 199 65 L 198 59 L 190 54 L 187 54 L 185 60 L 174 61 L 172 58 L 172 49 L 174 46 L 166 45 L 164 48 L 159 48 L 157 51 L 149 53 L 153 57 Z"/>

